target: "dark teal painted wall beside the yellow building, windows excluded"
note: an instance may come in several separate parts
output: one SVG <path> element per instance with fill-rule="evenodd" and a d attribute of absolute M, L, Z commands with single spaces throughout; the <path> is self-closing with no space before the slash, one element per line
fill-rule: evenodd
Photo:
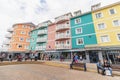
<path fill-rule="evenodd" d="M 80 18 L 81 23 L 76 24 L 75 19 Z M 71 37 L 72 37 L 72 48 L 84 48 L 85 45 L 97 44 L 92 14 L 86 13 L 81 16 L 71 18 Z M 76 29 L 82 28 L 82 33 L 76 34 Z M 84 44 L 77 45 L 77 39 L 82 38 Z"/>

